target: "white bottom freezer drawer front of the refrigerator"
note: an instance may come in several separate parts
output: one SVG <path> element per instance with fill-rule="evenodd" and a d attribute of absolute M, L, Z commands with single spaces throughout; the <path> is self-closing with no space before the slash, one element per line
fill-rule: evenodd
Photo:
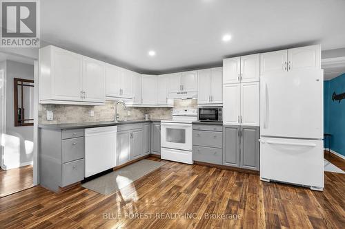
<path fill-rule="evenodd" d="M 260 139 L 260 177 L 279 182 L 324 187 L 322 140 Z"/>

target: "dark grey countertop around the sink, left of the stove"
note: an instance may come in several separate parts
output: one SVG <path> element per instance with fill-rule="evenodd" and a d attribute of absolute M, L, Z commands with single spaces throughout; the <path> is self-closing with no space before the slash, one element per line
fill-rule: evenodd
<path fill-rule="evenodd" d="M 128 120 L 118 122 L 76 122 L 76 123 L 61 123 L 61 124 L 39 124 L 41 129 L 84 129 L 93 127 L 110 127 L 121 124 L 135 124 L 140 122 L 160 122 L 161 120 Z"/>

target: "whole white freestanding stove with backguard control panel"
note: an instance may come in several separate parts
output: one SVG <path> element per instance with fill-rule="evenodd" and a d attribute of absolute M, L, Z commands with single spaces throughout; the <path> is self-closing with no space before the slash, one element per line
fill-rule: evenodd
<path fill-rule="evenodd" d="M 197 109 L 173 109 L 172 120 L 161 121 L 161 159 L 193 164 L 193 121 Z"/>

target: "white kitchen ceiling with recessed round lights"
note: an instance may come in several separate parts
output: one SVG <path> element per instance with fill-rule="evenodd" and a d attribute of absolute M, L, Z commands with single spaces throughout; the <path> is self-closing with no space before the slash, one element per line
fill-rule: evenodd
<path fill-rule="evenodd" d="M 283 47 L 345 47 L 344 10 L 344 0 L 44 0 L 41 39 L 137 72 L 173 72 Z"/>

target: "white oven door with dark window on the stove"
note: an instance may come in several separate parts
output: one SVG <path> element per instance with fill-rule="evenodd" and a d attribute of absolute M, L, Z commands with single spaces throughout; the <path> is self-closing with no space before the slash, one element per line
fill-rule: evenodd
<path fill-rule="evenodd" d="M 191 123 L 161 122 L 161 147 L 192 151 L 192 140 Z"/>

